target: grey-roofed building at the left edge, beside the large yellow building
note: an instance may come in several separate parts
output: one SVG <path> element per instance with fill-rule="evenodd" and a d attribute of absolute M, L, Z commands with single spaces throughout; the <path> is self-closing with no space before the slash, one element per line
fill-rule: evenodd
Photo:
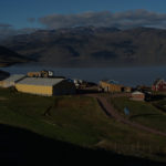
<path fill-rule="evenodd" d="M 8 79 L 0 81 L 0 86 L 1 87 L 14 86 L 15 83 L 18 83 L 19 81 L 23 80 L 24 77 L 25 77 L 25 75 L 23 75 L 23 74 L 10 75 Z"/>

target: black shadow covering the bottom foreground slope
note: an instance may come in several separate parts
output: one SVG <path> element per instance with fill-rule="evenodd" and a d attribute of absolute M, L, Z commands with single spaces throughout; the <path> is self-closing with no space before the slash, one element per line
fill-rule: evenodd
<path fill-rule="evenodd" d="M 82 148 L 25 129 L 0 125 L 0 165 L 87 165 L 94 163 L 122 166 L 165 165 L 102 149 Z"/>

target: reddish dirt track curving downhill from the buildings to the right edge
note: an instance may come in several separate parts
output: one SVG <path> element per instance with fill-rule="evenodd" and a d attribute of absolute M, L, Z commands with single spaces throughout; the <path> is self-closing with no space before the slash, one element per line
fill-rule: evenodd
<path fill-rule="evenodd" d="M 113 105 L 107 102 L 106 97 L 100 96 L 98 94 L 86 94 L 86 95 L 95 97 L 98 101 L 98 103 L 100 103 L 101 107 L 103 108 L 103 111 L 108 116 L 114 117 L 116 121 L 118 121 L 121 123 L 124 123 L 124 124 L 127 124 L 127 125 L 129 125 L 132 127 L 142 129 L 142 131 L 146 131 L 146 132 L 149 132 L 149 133 L 153 133 L 153 134 L 166 136 L 166 133 L 159 132 L 157 129 L 154 129 L 154 128 L 151 128 L 151 127 L 147 127 L 147 126 L 144 126 L 144 125 L 141 125 L 141 124 L 137 124 L 137 123 L 134 123 L 134 122 L 131 122 L 131 121 L 124 118 L 123 116 L 121 116 L 117 113 L 117 111 L 113 107 Z"/>

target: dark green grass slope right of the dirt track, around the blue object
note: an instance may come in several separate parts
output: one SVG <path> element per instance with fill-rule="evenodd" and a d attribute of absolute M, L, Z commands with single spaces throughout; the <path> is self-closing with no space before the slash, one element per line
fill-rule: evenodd
<path fill-rule="evenodd" d="M 153 104 L 131 101 L 127 97 L 116 97 L 111 101 L 126 118 L 166 133 L 166 113 L 156 108 Z M 124 114 L 124 107 L 128 107 L 129 115 Z"/>

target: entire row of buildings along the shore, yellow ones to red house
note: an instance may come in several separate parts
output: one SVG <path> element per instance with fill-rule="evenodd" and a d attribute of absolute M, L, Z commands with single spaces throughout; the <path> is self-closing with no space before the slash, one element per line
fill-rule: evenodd
<path fill-rule="evenodd" d="M 84 89 L 92 84 L 82 80 L 65 79 L 64 76 L 54 76 L 52 71 L 29 72 L 27 75 L 14 74 L 0 81 L 1 87 L 14 86 L 19 92 L 38 94 L 38 95 L 64 95 L 75 94 L 77 89 Z M 144 90 L 144 91 L 143 91 Z M 133 90 L 124 86 L 116 81 L 100 81 L 98 92 L 107 93 L 131 93 L 131 98 L 135 101 L 144 101 L 149 87 L 137 87 Z M 151 91 L 165 91 L 166 82 L 157 79 L 152 85 Z"/>

